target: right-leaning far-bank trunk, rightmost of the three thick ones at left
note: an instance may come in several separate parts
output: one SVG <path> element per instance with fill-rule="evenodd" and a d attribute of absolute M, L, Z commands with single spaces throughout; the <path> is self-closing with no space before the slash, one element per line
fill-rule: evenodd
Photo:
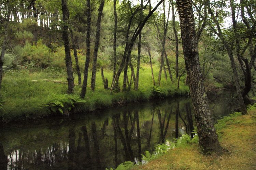
<path fill-rule="evenodd" d="M 95 46 L 94 46 L 94 53 L 93 53 L 93 71 L 91 74 L 91 90 L 93 91 L 95 89 L 96 65 L 97 65 L 98 49 L 99 49 L 99 43 L 100 43 L 100 24 L 101 24 L 101 17 L 102 17 L 104 3 L 105 3 L 105 0 L 101 0 L 100 6 L 99 6 L 98 19 L 96 23 L 96 39 L 95 39 Z"/>

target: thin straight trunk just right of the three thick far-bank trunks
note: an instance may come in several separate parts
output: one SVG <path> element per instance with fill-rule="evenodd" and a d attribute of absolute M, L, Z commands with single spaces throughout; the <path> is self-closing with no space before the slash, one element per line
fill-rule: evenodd
<path fill-rule="evenodd" d="M 114 66 L 113 66 L 113 79 L 112 79 L 110 88 L 112 88 L 112 84 L 116 75 L 116 31 L 117 31 L 117 14 L 116 14 L 116 0 L 114 0 L 114 42 L 113 42 Z"/>

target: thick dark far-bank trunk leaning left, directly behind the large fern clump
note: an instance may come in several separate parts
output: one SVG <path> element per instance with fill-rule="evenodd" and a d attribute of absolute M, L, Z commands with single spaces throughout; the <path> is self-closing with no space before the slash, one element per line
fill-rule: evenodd
<path fill-rule="evenodd" d="M 62 38 L 65 47 L 65 61 L 67 67 L 67 74 L 68 74 L 68 94 L 73 93 L 74 91 L 74 77 L 73 77 L 73 68 L 72 68 L 72 61 L 71 61 L 71 54 L 70 54 L 70 47 L 69 47 L 69 35 L 68 35 L 68 20 L 69 20 L 69 11 L 67 6 L 67 0 L 61 0 L 62 6 L 62 17 L 63 17 L 63 27 L 62 27 Z"/>

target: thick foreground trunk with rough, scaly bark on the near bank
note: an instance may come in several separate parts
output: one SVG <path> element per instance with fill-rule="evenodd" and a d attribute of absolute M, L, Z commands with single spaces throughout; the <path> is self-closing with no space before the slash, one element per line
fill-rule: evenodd
<path fill-rule="evenodd" d="M 191 0 L 177 0 L 176 3 L 180 17 L 188 83 L 197 122 L 199 146 L 202 147 L 204 153 L 221 153 L 223 149 L 219 144 L 218 136 L 213 125 L 208 98 L 204 90 L 200 71 L 197 35 Z"/>

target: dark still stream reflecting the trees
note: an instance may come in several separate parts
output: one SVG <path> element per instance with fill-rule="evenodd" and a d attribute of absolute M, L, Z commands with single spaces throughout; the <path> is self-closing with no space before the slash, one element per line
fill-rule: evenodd
<path fill-rule="evenodd" d="M 213 119 L 231 113 L 229 93 L 210 100 Z M 54 119 L 54 120 L 53 120 Z M 146 150 L 194 129 L 190 98 L 117 106 L 89 115 L 1 128 L 0 169 L 105 169 L 141 161 Z"/>

